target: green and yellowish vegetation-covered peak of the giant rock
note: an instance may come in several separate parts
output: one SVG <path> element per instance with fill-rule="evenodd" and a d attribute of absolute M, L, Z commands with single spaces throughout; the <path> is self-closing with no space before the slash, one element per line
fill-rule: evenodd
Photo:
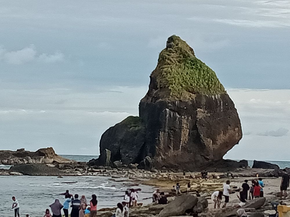
<path fill-rule="evenodd" d="M 169 92 L 170 98 L 192 98 L 196 93 L 216 95 L 226 93 L 215 72 L 178 36 L 170 36 L 160 52 L 151 77 L 157 89 Z"/>

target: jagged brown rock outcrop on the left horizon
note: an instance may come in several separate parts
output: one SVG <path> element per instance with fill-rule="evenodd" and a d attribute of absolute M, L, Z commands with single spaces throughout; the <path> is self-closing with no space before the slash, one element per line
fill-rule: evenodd
<path fill-rule="evenodd" d="M 27 163 L 72 163 L 73 160 L 63 158 L 55 153 L 53 148 L 41 148 L 36 152 L 24 150 L 17 151 L 0 151 L 0 164 L 18 165 Z"/>

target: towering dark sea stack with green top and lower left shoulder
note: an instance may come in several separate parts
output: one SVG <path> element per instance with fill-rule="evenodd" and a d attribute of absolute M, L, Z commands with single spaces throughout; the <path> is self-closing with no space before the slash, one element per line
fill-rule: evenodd
<path fill-rule="evenodd" d="M 221 160 L 242 138 L 235 105 L 215 72 L 196 58 L 178 36 L 168 38 L 151 73 L 139 117 L 128 117 L 106 130 L 100 158 L 139 163 L 147 157 L 155 168 L 191 170 Z"/>

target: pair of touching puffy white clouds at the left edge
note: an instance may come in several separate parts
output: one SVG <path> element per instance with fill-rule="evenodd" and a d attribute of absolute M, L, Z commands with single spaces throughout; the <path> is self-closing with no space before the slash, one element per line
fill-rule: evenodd
<path fill-rule="evenodd" d="M 35 59 L 46 63 L 59 62 L 64 60 L 64 54 L 61 52 L 55 52 L 54 54 L 43 53 L 38 56 L 33 44 L 29 47 L 24 47 L 23 49 L 15 51 L 8 51 L 0 47 L 0 60 L 3 60 L 8 64 L 21 65 Z"/>

